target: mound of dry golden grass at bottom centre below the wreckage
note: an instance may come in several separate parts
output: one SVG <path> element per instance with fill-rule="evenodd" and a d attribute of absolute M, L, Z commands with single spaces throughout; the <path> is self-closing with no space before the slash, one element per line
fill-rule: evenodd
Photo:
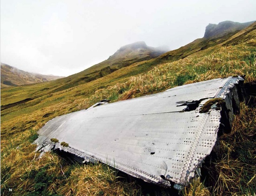
<path fill-rule="evenodd" d="M 117 171 L 105 164 L 81 166 L 72 170 L 63 193 L 84 195 L 137 195 L 134 183 L 124 184 L 118 180 Z M 71 189 L 70 189 L 71 188 Z"/>

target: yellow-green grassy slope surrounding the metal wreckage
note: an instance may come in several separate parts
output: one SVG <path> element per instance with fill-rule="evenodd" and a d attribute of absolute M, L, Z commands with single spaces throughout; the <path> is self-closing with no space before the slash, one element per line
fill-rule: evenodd
<path fill-rule="evenodd" d="M 53 82 L 1 89 L 1 105 L 5 105 L 1 107 L 1 193 L 10 195 L 8 188 L 12 188 L 12 193 L 19 196 L 175 194 L 174 190 L 145 184 L 104 164 L 80 165 L 54 153 L 37 160 L 39 153 L 35 154 L 31 142 L 37 138 L 38 129 L 53 117 L 88 108 L 102 99 L 130 99 L 233 75 L 246 75 L 246 82 L 256 80 L 255 26 L 178 61 L 164 59 L 163 55 L 68 89 L 56 90 L 60 86 Z M 221 136 L 220 156 L 206 160 L 204 169 L 210 172 L 187 187 L 183 195 L 254 194 L 256 99 L 250 98 L 254 101 L 251 105 L 248 100 L 241 103 L 232 133 Z"/>

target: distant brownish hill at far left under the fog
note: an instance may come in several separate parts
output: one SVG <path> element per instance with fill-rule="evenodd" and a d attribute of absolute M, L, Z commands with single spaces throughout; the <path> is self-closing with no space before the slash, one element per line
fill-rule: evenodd
<path fill-rule="evenodd" d="M 22 71 L 10 65 L 1 63 L 1 88 L 46 82 L 63 78 L 62 76 L 41 75 Z"/>

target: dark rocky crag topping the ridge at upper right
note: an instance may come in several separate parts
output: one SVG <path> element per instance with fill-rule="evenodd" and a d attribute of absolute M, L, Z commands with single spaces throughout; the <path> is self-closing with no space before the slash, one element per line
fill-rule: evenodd
<path fill-rule="evenodd" d="M 208 24 L 205 28 L 204 38 L 211 38 L 211 37 L 219 37 L 224 36 L 225 34 L 229 34 L 232 32 L 238 32 L 252 24 L 255 21 L 251 22 L 233 22 L 233 21 L 223 21 L 219 22 L 219 24 Z"/>

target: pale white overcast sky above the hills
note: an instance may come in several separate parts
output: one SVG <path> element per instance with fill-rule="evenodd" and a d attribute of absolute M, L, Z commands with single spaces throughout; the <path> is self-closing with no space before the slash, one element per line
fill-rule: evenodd
<path fill-rule="evenodd" d="M 68 76 L 121 46 L 177 49 L 209 23 L 256 20 L 256 0 L 1 0 L 0 61 Z"/>

